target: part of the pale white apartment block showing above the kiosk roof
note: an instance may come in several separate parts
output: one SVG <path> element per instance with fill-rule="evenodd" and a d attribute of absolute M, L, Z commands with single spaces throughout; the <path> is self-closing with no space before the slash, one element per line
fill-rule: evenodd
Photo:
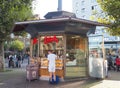
<path fill-rule="evenodd" d="M 73 12 L 78 18 L 91 20 L 94 11 L 101 11 L 97 0 L 73 0 Z"/>

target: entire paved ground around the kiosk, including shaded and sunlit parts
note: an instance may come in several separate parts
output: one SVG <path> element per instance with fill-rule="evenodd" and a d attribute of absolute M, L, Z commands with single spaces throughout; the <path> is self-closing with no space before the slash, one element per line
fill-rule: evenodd
<path fill-rule="evenodd" d="M 0 72 L 0 88 L 119 88 L 120 72 L 110 72 L 105 80 L 87 79 L 82 81 L 60 82 L 50 85 L 48 81 L 26 80 L 25 68 L 13 68 L 12 71 Z"/>

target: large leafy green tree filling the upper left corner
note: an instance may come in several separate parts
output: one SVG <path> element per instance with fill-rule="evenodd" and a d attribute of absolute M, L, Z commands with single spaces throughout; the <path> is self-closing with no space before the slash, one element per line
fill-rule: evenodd
<path fill-rule="evenodd" d="M 4 62 L 4 42 L 10 39 L 16 21 L 32 17 L 33 0 L 0 0 L 0 56 Z"/>

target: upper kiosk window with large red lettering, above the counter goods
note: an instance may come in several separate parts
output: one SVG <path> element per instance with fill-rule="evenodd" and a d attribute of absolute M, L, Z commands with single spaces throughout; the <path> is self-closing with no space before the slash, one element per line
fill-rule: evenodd
<path fill-rule="evenodd" d="M 63 36 L 42 36 L 40 38 L 40 56 L 46 57 L 48 50 L 52 50 L 60 57 L 63 55 L 63 45 Z"/>

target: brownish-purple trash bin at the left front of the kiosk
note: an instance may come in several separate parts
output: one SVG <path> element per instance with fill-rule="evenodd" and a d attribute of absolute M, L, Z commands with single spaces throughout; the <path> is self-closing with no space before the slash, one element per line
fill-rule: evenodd
<path fill-rule="evenodd" d="M 36 64 L 29 64 L 26 66 L 26 79 L 31 81 L 39 79 L 39 66 Z"/>

